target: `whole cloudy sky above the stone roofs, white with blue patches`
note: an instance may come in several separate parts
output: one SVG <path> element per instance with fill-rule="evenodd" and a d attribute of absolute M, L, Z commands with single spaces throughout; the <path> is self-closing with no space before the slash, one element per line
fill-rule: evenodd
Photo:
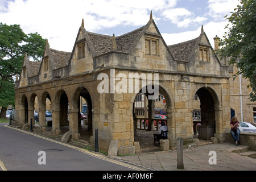
<path fill-rule="evenodd" d="M 38 32 L 51 48 L 71 52 L 84 19 L 85 29 L 98 34 L 126 34 L 153 19 L 167 45 L 197 38 L 201 25 L 213 44 L 224 35 L 224 16 L 238 0 L 1 0 L 0 22 Z"/>

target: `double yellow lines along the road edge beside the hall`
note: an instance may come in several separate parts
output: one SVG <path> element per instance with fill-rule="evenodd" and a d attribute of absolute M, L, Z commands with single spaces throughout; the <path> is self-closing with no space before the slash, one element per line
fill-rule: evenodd
<path fill-rule="evenodd" d="M 118 162 L 117 160 L 114 160 L 114 159 L 110 159 L 106 156 L 103 156 L 103 155 L 100 155 L 100 154 L 96 154 L 94 152 L 90 152 L 89 150 L 86 150 L 84 148 L 80 148 L 80 147 L 76 147 L 76 146 L 72 146 L 70 144 L 67 144 L 67 143 L 63 143 L 63 142 L 59 142 L 57 140 L 53 140 L 53 139 L 50 139 L 50 138 L 46 138 L 46 137 L 43 137 L 43 136 L 40 136 L 38 134 L 35 134 L 35 133 L 31 133 L 29 131 L 25 131 L 25 130 L 20 130 L 20 129 L 17 129 L 15 127 L 11 127 L 9 125 L 4 125 L 5 127 L 8 127 L 9 129 L 14 129 L 14 130 L 17 130 L 17 131 L 22 131 L 23 133 L 26 133 L 26 134 L 30 134 L 30 135 L 33 135 L 35 137 L 38 137 L 38 138 L 42 138 L 42 139 L 45 139 L 45 140 L 49 140 L 51 142 L 55 142 L 55 143 L 58 143 L 58 144 L 62 144 L 63 146 L 67 146 L 67 147 L 70 147 L 70 148 L 73 148 L 75 150 L 78 150 L 80 152 L 83 152 L 85 154 L 88 154 L 90 156 L 93 156 L 94 158 L 98 158 L 98 159 L 102 159 L 102 160 L 105 160 L 105 161 L 108 161 L 108 162 L 111 162 L 111 163 L 115 163 L 115 164 L 118 164 L 118 165 L 121 165 L 121 166 L 124 166 L 124 167 L 128 167 L 128 168 L 131 168 L 131 169 L 134 169 L 134 170 L 137 170 L 137 171 L 146 171 L 146 169 L 143 169 L 141 167 L 137 167 L 137 166 L 134 166 L 134 165 L 131 165 L 131 164 L 126 164 L 126 163 L 123 163 L 123 162 Z M 1 162 L 1 160 L 0 160 Z"/>

